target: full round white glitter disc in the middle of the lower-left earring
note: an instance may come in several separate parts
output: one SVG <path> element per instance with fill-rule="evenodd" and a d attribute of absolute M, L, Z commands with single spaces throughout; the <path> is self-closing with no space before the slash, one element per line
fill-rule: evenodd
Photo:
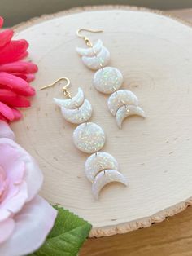
<path fill-rule="evenodd" d="M 76 148 L 86 153 L 98 152 L 105 143 L 103 129 L 94 122 L 83 123 L 76 127 L 72 136 Z"/>

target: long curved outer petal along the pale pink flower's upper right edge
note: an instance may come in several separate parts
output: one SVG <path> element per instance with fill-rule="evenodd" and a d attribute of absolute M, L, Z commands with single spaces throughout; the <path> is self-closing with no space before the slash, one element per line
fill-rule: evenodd
<path fill-rule="evenodd" d="M 1 144 L 8 144 L 15 148 L 20 153 L 20 160 L 24 161 L 25 164 L 25 175 L 24 180 L 28 185 L 28 201 L 31 201 L 33 197 L 39 192 L 42 182 L 43 175 L 37 166 L 36 161 L 31 157 L 28 152 L 21 148 L 19 144 L 15 143 L 11 139 L 0 139 Z M 1 255 L 1 254 L 0 254 Z"/>

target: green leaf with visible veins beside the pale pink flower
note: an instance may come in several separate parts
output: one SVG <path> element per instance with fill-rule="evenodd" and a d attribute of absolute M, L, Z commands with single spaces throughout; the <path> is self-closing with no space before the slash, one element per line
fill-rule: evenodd
<path fill-rule="evenodd" d="M 76 256 L 91 229 L 91 225 L 68 210 L 58 210 L 55 225 L 46 242 L 30 256 Z"/>

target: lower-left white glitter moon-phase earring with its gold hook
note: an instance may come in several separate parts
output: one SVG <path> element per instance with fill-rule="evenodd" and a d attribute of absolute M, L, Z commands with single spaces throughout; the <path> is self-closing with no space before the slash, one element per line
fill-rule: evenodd
<path fill-rule="evenodd" d="M 85 99 L 83 90 L 78 88 L 77 94 L 72 97 L 68 90 L 70 80 L 67 77 L 61 77 L 41 90 L 61 81 L 67 82 L 62 89 L 67 99 L 54 98 L 54 101 L 61 108 L 61 113 L 67 121 L 78 124 L 73 132 L 73 143 L 81 152 L 91 154 L 85 162 L 85 175 L 92 183 L 95 199 L 98 199 L 99 192 L 107 183 L 119 182 L 127 185 L 127 182 L 120 173 L 116 159 L 107 152 L 99 151 L 105 144 L 105 134 L 100 126 L 88 122 L 92 116 L 92 107 L 89 100 Z"/>

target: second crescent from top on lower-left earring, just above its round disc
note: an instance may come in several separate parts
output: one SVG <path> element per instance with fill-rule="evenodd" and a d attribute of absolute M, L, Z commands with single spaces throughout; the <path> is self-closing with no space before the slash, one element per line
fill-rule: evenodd
<path fill-rule="evenodd" d="M 89 103 L 89 100 L 85 99 L 84 103 L 81 107 L 76 109 L 69 109 L 69 108 L 61 108 L 61 112 L 63 117 L 67 120 L 72 122 L 73 124 L 81 124 L 85 121 L 88 121 L 92 115 L 92 107 Z"/>

